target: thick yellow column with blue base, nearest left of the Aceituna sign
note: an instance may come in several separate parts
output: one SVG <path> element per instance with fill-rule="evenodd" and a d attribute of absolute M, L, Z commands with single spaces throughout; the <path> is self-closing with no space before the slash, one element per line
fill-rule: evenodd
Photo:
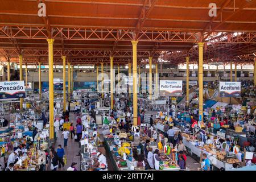
<path fill-rule="evenodd" d="M 198 43 L 199 46 L 199 67 L 198 67 L 198 71 L 199 71 L 199 121 L 204 121 L 203 119 L 203 95 L 204 95 L 204 88 L 203 88 L 203 77 L 204 77 L 204 73 L 203 73 L 203 46 L 204 43 L 200 42 Z"/>

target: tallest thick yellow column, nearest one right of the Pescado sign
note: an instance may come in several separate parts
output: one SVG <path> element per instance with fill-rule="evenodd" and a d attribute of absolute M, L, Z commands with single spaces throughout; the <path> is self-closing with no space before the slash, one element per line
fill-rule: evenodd
<path fill-rule="evenodd" d="M 53 93 L 53 42 L 54 39 L 47 39 L 48 42 L 48 61 L 49 61 L 49 139 L 54 139 L 54 93 Z"/>

